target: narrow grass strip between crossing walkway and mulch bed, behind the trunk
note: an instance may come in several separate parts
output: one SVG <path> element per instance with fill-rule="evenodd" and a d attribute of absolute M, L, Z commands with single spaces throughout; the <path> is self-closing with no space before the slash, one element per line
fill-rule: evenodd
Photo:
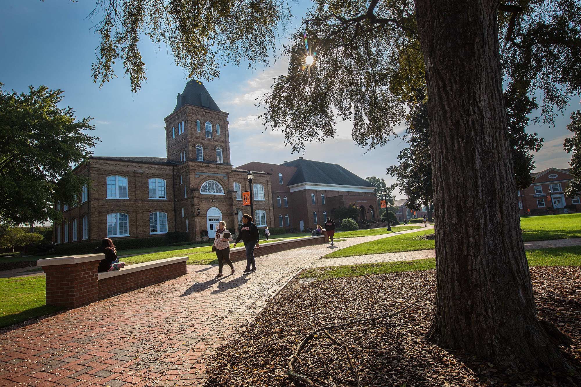
<path fill-rule="evenodd" d="M 581 266 L 581 246 L 566 248 L 538 249 L 526 252 L 529 266 Z M 366 263 L 320 267 L 304 270 L 300 278 L 330 279 L 358 277 L 360 275 L 398 273 L 401 271 L 420 271 L 436 268 L 434 258 L 412 261 Z"/>

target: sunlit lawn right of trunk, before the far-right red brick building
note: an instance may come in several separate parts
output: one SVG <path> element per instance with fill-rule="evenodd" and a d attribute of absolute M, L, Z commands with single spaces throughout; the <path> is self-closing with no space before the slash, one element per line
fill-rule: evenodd
<path fill-rule="evenodd" d="M 581 238 L 581 213 L 524 217 L 521 230 L 525 242 Z"/>

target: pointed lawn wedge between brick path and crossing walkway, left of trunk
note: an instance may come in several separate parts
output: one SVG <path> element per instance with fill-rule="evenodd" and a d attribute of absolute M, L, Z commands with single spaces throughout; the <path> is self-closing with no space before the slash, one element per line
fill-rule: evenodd
<path fill-rule="evenodd" d="M 399 253 L 402 251 L 431 250 L 435 249 L 435 241 L 420 239 L 418 236 L 433 234 L 431 230 L 418 231 L 413 234 L 390 236 L 389 238 L 377 239 L 376 241 L 360 243 L 345 249 L 329 253 L 323 258 L 350 257 L 354 255 L 368 255 L 381 253 Z"/>

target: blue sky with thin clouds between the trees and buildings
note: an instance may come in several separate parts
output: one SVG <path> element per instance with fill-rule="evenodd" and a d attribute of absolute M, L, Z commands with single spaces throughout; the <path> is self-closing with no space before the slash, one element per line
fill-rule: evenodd
<path fill-rule="evenodd" d="M 148 80 L 132 94 L 123 68 L 116 67 L 118 78 L 99 89 L 91 76 L 98 37 L 88 18 L 95 2 L 84 0 L 3 0 L 0 3 L 0 82 L 5 89 L 27 91 L 28 85 L 46 85 L 64 91 L 63 106 L 73 107 L 78 117 L 94 117 L 95 135 L 102 138 L 96 146 L 99 156 L 165 157 L 164 121 L 175 106 L 175 97 L 184 89 L 187 73 L 175 66 L 166 49 L 156 50 L 149 41 L 140 45 L 148 69 Z M 295 26 L 296 28 L 296 26 Z M 286 73 L 286 60 L 272 67 L 250 71 L 228 66 L 217 80 L 204 81 L 220 109 L 229 113 L 231 158 L 235 166 L 250 161 L 282 163 L 299 156 L 337 163 L 365 177 L 394 178 L 385 175 L 386 167 L 397 163 L 397 154 L 406 143 L 395 138 L 382 148 L 365 152 L 353 144 L 350 123 L 338 127 L 337 136 L 325 144 L 307 145 L 304 155 L 292 155 L 280 132 L 265 131 L 256 116 L 254 98 L 267 91 L 272 78 Z M 562 149 L 571 132 L 565 126 L 569 115 L 579 109 L 579 98 L 571 101 L 557 125 L 531 125 L 529 132 L 545 138 L 536 153 L 537 170 L 567 168 L 571 157 Z M 403 127 L 399 132 L 403 132 Z M 396 192 L 397 195 L 397 192 Z M 397 195 L 397 198 L 403 197 Z"/>

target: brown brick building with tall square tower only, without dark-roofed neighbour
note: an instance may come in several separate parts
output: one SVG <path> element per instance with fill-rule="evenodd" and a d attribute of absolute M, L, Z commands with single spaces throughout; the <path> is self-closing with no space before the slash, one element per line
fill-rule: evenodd
<path fill-rule="evenodd" d="M 74 173 L 87 175 L 90 188 L 73 208 L 57 204 L 64 221 L 53 227 L 57 243 L 95 242 L 102 238 L 144 238 L 169 231 L 189 239 L 218 221 L 232 230 L 242 223 L 242 192 L 249 190 L 247 170 L 230 159 L 228 113 L 222 112 L 204 85 L 187 83 L 166 122 L 167 157 L 94 156 Z M 271 174 L 253 173 L 254 217 L 259 227 L 272 224 Z"/>

